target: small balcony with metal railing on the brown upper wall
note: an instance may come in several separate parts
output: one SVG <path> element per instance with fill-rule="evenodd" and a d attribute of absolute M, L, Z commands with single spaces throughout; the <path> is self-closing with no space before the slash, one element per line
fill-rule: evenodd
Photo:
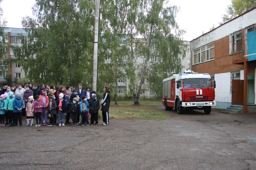
<path fill-rule="evenodd" d="M 248 56 L 245 55 L 247 55 L 247 39 L 232 44 L 232 64 L 243 64 L 244 61 L 248 61 Z"/>

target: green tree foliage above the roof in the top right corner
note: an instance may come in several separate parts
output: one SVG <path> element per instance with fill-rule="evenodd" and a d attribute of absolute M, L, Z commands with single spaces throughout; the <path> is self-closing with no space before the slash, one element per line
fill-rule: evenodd
<path fill-rule="evenodd" d="M 232 0 L 231 5 L 228 5 L 226 9 L 226 13 L 222 15 L 222 23 L 220 24 L 223 24 L 230 19 L 241 15 L 242 13 L 254 8 L 255 6 L 255 0 Z"/>

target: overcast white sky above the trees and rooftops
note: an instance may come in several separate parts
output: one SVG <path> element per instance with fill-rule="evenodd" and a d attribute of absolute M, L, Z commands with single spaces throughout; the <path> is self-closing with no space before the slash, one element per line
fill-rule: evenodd
<path fill-rule="evenodd" d="M 32 16 L 31 7 L 35 0 L 3 0 L 1 7 L 7 20 L 7 27 L 22 28 L 21 18 Z M 171 5 L 180 6 L 180 12 L 176 21 L 180 29 L 184 29 L 186 34 L 184 40 L 191 41 L 196 37 L 210 31 L 212 25 L 219 26 L 222 15 L 225 13 L 231 0 L 170 0 Z"/>

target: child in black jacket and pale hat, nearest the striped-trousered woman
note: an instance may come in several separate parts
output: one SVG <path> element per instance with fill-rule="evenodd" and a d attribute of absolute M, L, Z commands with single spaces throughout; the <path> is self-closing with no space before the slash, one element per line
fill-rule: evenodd
<path fill-rule="evenodd" d="M 89 112 L 91 113 L 91 124 L 93 125 L 94 121 L 96 125 L 99 125 L 98 122 L 98 113 L 99 113 L 99 109 L 100 109 L 100 105 L 98 103 L 98 100 L 96 100 L 96 95 L 92 94 L 92 100 L 90 100 L 89 102 Z"/>

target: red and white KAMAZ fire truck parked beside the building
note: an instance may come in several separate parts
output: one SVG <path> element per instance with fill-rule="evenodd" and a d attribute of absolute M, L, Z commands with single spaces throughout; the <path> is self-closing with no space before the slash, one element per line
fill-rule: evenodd
<path fill-rule="evenodd" d="M 204 110 L 210 114 L 215 106 L 215 81 L 208 73 L 198 74 L 185 70 L 163 80 L 163 105 L 165 110 L 177 110 L 182 114 L 186 110 Z"/>

